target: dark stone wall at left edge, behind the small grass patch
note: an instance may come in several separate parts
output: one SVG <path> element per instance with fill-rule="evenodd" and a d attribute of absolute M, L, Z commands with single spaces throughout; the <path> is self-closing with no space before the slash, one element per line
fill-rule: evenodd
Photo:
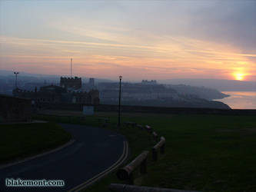
<path fill-rule="evenodd" d="M 31 121 L 32 101 L 0 94 L 0 123 Z"/>

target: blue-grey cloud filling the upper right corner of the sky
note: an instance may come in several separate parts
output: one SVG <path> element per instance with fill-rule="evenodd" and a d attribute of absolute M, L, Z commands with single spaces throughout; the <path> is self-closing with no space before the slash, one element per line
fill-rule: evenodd
<path fill-rule="evenodd" d="M 194 37 L 233 45 L 249 54 L 256 53 L 256 2 L 218 1 L 191 14 Z"/>

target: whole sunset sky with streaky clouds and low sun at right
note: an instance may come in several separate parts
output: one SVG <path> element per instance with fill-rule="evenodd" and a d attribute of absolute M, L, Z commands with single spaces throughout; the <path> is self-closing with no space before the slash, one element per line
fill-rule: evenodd
<path fill-rule="evenodd" d="M 256 1 L 0 0 L 0 70 L 256 81 Z"/>

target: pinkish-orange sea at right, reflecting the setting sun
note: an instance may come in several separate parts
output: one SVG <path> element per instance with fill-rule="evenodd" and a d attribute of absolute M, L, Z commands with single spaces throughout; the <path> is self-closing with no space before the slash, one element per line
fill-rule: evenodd
<path fill-rule="evenodd" d="M 256 109 L 256 91 L 221 91 L 230 97 L 214 99 L 228 104 L 232 109 Z"/>

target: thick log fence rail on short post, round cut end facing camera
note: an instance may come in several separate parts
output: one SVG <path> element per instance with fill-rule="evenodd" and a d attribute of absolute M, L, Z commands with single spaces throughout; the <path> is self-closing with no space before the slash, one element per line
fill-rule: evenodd
<path fill-rule="evenodd" d="M 137 167 L 141 167 L 141 174 L 147 173 L 147 158 L 149 151 L 143 151 L 130 164 L 118 170 L 117 176 L 119 180 L 128 180 L 129 184 L 133 184 L 133 172 Z"/>

